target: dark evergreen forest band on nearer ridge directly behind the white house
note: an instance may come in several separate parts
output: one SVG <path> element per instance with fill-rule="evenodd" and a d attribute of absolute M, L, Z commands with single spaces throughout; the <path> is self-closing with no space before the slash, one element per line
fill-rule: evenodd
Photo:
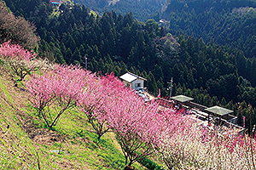
<path fill-rule="evenodd" d="M 181 34 L 172 37 L 154 20 L 139 22 L 132 13 L 105 11 L 100 16 L 84 5 L 55 7 L 42 0 L 6 4 L 38 28 L 42 58 L 84 65 L 87 57 L 90 71 L 117 77 L 134 72 L 148 79 L 148 91 L 160 88 L 162 96 L 169 93 L 167 82 L 173 77 L 174 94 L 189 95 L 201 105 L 223 105 L 235 111 L 239 124 L 241 115 L 246 116 L 247 127 L 249 120 L 256 122 L 256 110 L 248 106 L 256 107 L 256 60 L 240 49 Z"/>

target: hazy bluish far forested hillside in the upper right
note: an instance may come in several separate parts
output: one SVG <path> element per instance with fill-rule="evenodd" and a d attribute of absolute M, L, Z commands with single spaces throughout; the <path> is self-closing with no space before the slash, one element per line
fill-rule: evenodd
<path fill-rule="evenodd" d="M 256 54 L 255 8 L 254 0 L 169 0 L 163 17 L 170 21 L 168 27 L 174 35 L 182 31 L 202 37 L 205 42 L 239 48 L 247 58 L 253 58 Z M 248 75 L 240 73 L 244 77 Z M 254 80 L 250 80 L 255 86 Z"/>

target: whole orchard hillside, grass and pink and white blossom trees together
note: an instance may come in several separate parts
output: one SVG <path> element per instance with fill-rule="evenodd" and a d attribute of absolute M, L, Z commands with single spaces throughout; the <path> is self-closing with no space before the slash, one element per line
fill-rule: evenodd
<path fill-rule="evenodd" d="M 198 127 L 189 109 L 145 103 L 113 74 L 18 49 L 0 48 L 2 169 L 255 169 L 253 136 Z M 9 59 L 26 63 L 24 77 Z"/>

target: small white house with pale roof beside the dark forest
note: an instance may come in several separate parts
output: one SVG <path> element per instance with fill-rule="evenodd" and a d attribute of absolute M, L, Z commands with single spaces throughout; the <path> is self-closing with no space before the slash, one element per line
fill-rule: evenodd
<path fill-rule="evenodd" d="M 135 74 L 132 74 L 131 72 L 127 72 L 119 78 L 123 80 L 127 87 L 133 88 L 135 90 L 144 88 L 144 81 L 147 81 L 146 78 L 139 77 Z"/>

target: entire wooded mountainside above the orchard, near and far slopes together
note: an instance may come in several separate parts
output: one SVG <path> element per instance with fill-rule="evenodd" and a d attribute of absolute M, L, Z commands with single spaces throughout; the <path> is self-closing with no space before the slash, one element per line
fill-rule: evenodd
<path fill-rule="evenodd" d="M 85 67 L 86 57 L 88 70 L 99 77 L 131 71 L 147 78 L 151 94 L 160 89 L 161 97 L 168 96 L 167 82 L 173 77 L 173 95 L 224 106 L 234 111 L 240 126 L 245 116 L 251 132 L 256 124 L 254 0 L 150 1 L 160 9 L 136 8 L 134 14 L 130 1 L 116 11 L 120 2 L 113 8 L 107 8 L 108 1 L 94 7 L 94 1 L 86 6 L 63 2 L 0 0 L 0 43 L 11 40 L 61 65 Z"/>

